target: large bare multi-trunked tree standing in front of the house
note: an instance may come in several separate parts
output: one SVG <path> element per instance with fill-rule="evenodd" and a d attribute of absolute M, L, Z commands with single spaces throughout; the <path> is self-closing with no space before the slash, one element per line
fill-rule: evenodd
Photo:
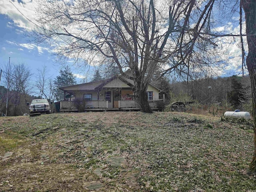
<path fill-rule="evenodd" d="M 146 90 L 156 69 L 166 74 L 178 66 L 189 68 L 192 53 L 203 60 L 207 47 L 216 46 L 207 35 L 214 2 L 52 0 L 38 9 L 36 40 L 59 40 L 61 58 L 88 60 L 97 54 L 114 62 L 121 74 L 130 69 L 141 110 L 152 112 Z"/>

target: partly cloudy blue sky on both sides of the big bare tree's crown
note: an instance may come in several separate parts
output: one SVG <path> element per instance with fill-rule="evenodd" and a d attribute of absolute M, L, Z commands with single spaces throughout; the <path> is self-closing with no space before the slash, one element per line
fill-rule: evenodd
<path fill-rule="evenodd" d="M 11 2 L 12 3 L 11 3 Z M 32 22 L 27 18 L 34 21 L 35 8 L 37 6 L 36 0 L 0 0 L 0 67 L 8 64 L 10 58 L 10 64 L 24 63 L 31 72 L 34 74 L 34 80 L 36 80 L 36 74 L 38 70 L 42 69 L 42 66 L 46 66 L 48 75 L 55 78 L 60 70 L 60 65 L 54 61 L 52 50 L 44 44 L 36 44 L 31 41 L 32 39 L 26 36 L 26 32 L 33 28 Z M 14 7 L 18 8 L 20 12 Z M 238 18 L 239 20 L 239 18 Z M 225 25 L 220 26 L 216 30 L 225 30 L 226 32 L 239 32 L 238 22 L 236 24 L 227 22 Z M 232 38 L 229 40 L 222 40 L 225 42 L 222 49 L 228 51 L 229 63 L 227 70 L 231 70 L 234 74 L 239 74 L 241 71 L 241 57 L 240 48 L 237 44 L 232 42 Z M 72 67 L 72 65 L 70 65 Z M 78 77 L 78 82 L 89 81 L 90 76 L 85 73 L 72 69 L 73 74 Z M 83 79 L 85 78 L 85 79 Z M 3 85 L 3 82 L 0 82 Z"/>

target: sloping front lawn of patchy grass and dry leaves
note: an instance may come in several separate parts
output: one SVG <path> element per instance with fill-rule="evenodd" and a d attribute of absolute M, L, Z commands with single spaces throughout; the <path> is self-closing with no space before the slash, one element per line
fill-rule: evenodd
<path fill-rule="evenodd" d="M 246 123 L 178 112 L 0 117 L 0 191 L 253 191 Z"/>

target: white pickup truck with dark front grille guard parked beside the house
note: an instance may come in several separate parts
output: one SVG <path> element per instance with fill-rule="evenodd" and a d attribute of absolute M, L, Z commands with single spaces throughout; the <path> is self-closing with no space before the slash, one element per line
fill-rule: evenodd
<path fill-rule="evenodd" d="M 34 99 L 32 100 L 31 104 L 27 103 L 27 105 L 29 105 L 30 114 L 33 114 L 33 113 L 50 114 L 51 113 L 50 104 L 47 99 Z"/>

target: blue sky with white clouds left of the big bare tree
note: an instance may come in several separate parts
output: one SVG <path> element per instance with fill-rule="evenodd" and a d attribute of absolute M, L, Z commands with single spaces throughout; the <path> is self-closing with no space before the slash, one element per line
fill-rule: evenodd
<path fill-rule="evenodd" d="M 33 24 L 13 4 L 30 20 L 33 20 L 36 6 L 33 0 L 12 0 L 12 3 L 9 0 L 0 0 L 0 68 L 4 70 L 10 58 L 10 65 L 24 63 L 31 69 L 34 80 L 43 66 L 46 66 L 48 76 L 55 78 L 59 74 L 60 64 L 56 63 L 50 48 L 44 44 L 36 44 L 26 35 L 33 28 Z M 72 72 L 76 74 L 78 82 L 86 78 L 75 69 Z M 3 81 L 0 85 L 3 85 Z"/>

